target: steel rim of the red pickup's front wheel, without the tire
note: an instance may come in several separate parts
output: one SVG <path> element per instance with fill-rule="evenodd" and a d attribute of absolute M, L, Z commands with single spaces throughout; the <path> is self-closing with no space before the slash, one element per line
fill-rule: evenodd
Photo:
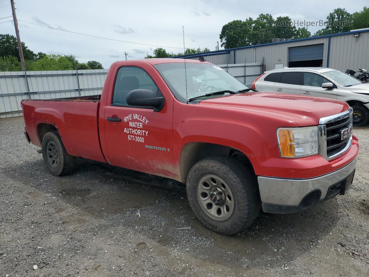
<path fill-rule="evenodd" d="M 218 203 L 214 203 L 210 198 L 210 195 L 214 197 L 214 194 L 217 194 L 215 198 L 219 200 Z M 227 183 L 217 175 L 206 174 L 201 177 L 197 182 L 196 195 L 201 209 L 210 218 L 223 221 L 231 217 L 234 211 L 233 194 Z"/>

